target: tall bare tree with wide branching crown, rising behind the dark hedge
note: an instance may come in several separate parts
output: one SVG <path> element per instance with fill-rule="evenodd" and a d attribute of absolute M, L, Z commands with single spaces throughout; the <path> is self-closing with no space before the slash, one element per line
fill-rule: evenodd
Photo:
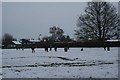
<path fill-rule="evenodd" d="M 88 2 L 85 14 L 79 16 L 77 39 L 106 40 L 118 36 L 119 17 L 109 2 Z"/>

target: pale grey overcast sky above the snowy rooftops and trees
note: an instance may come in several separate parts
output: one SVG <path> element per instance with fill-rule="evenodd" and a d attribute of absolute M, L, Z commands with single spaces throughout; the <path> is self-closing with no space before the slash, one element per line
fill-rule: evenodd
<path fill-rule="evenodd" d="M 51 26 L 58 26 L 74 37 L 77 19 L 85 7 L 85 2 L 3 2 L 2 34 L 37 39 L 39 34 L 49 35 Z"/>

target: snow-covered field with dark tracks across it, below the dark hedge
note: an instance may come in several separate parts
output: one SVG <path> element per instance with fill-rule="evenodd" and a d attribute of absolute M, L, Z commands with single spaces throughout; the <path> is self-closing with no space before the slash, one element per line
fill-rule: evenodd
<path fill-rule="evenodd" d="M 118 78 L 118 48 L 2 50 L 3 78 Z"/>

